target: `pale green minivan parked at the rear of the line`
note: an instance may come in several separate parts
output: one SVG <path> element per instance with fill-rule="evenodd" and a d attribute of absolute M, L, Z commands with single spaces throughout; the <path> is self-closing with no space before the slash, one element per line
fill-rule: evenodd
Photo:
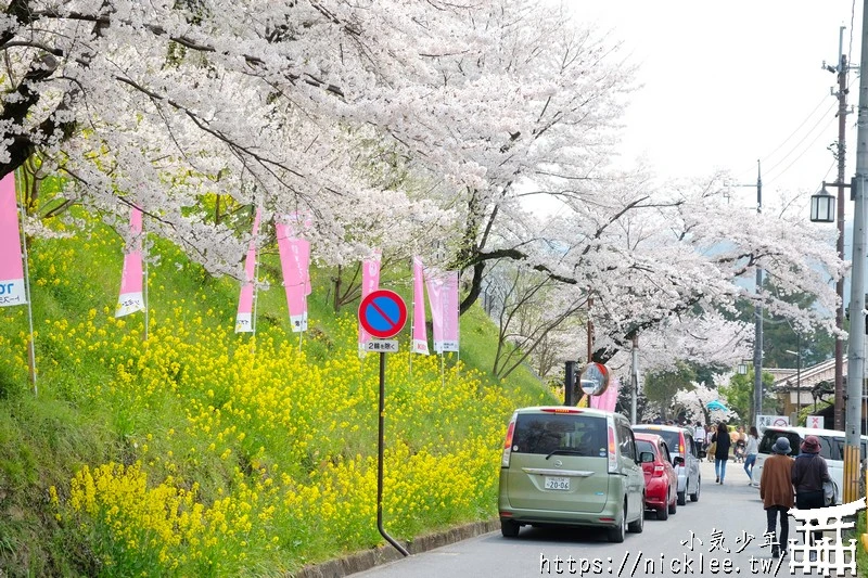
<path fill-rule="evenodd" d="M 644 475 L 618 413 L 574 407 L 523 408 L 507 427 L 500 467 L 500 529 L 597 526 L 612 542 L 642 531 Z"/>

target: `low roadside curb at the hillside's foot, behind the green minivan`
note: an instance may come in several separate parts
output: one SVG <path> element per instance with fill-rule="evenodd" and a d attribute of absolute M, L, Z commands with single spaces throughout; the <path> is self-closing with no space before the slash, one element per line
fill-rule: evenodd
<path fill-rule="evenodd" d="M 487 522 L 474 522 L 439 532 L 418 536 L 412 541 L 399 541 L 399 543 L 406 548 L 410 554 L 419 554 L 427 552 L 429 550 L 434 550 L 435 548 L 460 542 L 468 538 L 488 534 L 499 528 L 499 518 Z M 350 574 L 368 570 L 374 566 L 401 560 L 403 557 L 400 552 L 395 550 L 391 544 L 386 544 L 341 558 L 330 560 L 321 564 L 305 566 L 290 576 L 293 578 L 342 578 Z"/>

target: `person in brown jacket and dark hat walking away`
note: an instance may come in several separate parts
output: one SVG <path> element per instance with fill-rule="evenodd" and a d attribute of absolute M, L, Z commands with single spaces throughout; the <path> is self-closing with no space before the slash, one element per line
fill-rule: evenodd
<path fill-rule="evenodd" d="M 753 433 L 755 428 L 751 428 Z M 787 544 L 790 538 L 790 518 L 787 512 L 793 506 L 792 470 L 793 459 L 790 458 L 790 440 L 779 437 L 771 446 L 773 455 L 769 455 L 763 465 L 763 475 L 760 478 L 760 499 L 766 511 L 766 531 L 777 536 L 777 518 L 780 517 L 780 541 L 773 539 L 771 556 L 787 555 Z"/>

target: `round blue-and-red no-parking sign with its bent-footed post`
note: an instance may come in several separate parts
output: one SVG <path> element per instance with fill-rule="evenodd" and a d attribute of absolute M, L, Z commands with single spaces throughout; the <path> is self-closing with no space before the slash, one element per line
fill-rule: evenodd
<path fill-rule="evenodd" d="M 359 305 L 359 324 L 372 339 L 368 350 L 380 351 L 380 424 L 376 437 L 376 529 L 395 549 L 409 556 L 410 553 L 383 528 L 383 432 L 385 429 L 385 375 L 386 352 L 397 350 L 397 342 L 388 342 L 407 323 L 407 305 L 400 296 L 388 290 L 369 293 Z M 394 344 L 394 349 L 393 349 Z"/>

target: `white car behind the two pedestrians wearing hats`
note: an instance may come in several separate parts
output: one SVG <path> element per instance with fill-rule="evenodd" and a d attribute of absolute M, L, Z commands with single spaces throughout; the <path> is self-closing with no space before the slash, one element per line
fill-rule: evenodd
<path fill-rule="evenodd" d="M 802 441 L 805 436 L 817 436 L 820 440 L 820 455 L 826 459 L 829 466 L 829 477 L 832 478 L 834 485 L 834 503 L 841 503 L 843 498 L 844 487 L 844 432 L 837 429 L 815 429 L 808 427 L 790 427 L 790 426 L 775 426 L 766 427 L 763 431 L 763 437 L 760 438 L 760 450 L 756 454 L 756 462 L 753 466 L 753 480 L 756 487 L 760 487 L 760 480 L 763 477 L 763 465 L 766 458 L 771 453 L 771 446 L 779 437 L 786 437 L 790 440 L 792 448 L 791 457 L 795 458 L 801 451 Z M 865 464 L 866 450 L 868 449 L 868 436 L 861 436 L 859 448 L 860 463 Z"/>

